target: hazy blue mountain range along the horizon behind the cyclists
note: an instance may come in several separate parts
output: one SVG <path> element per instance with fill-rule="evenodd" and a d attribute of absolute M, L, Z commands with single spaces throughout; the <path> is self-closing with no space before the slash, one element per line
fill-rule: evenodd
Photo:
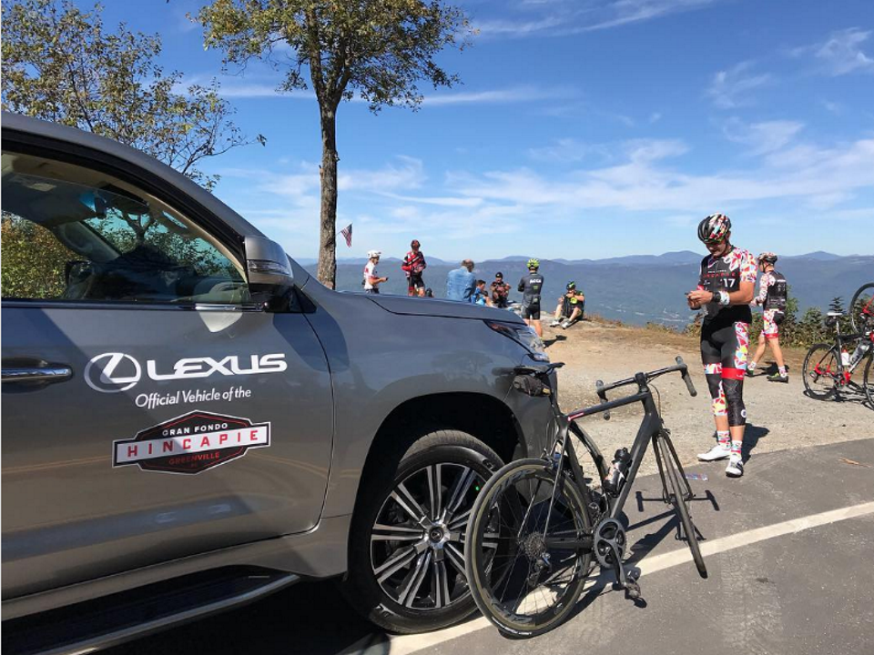
<path fill-rule="evenodd" d="M 427 255 L 427 254 L 426 254 Z M 587 312 L 627 323 L 647 322 L 683 327 L 694 317 L 686 307 L 684 293 L 696 286 L 698 266 L 703 254 L 689 250 L 663 255 L 632 255 L 608 259 L 541 259 L 544 275 L 544 309 L 552 312 L 567 282 L 574 280 L 585 294 Z M 502 271 L 513 286 L 511 299 L 520 299 L 515 285 L 525 273 L 528 257 L 512 256 L 478 262 L 474 274 L 491 283 L 494 274 Z M 316 262 L 298 259 L 301 266 L 315 272 Z M 337 287 L 340 290 L 361 290 L 362 267 L 365 258 L 340 259 L 337 263 Z M 455 262 L 428 256 L 425 284 L 437 297 L 445 296 L 446 275 Z M 789 283 L 790 294 L 798 298 L 802 311 L 808 307 L 827 307 L 836 296 L 848 302 L 853 292 L 866 282 L 874 281 L 874 256 L 841 257 L 826 252 L 813 252 L 794 257 L 780 257 L 777 270 Z M 380 262 L 380 274 L 389 281 L 383 293 L 406 295 L 406 279 L 401 260 L 393 257 Z"/>

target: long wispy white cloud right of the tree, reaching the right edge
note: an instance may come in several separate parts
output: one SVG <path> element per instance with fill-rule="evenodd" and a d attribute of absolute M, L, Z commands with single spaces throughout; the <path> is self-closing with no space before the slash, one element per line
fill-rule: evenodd
<path fill-rule="evenodd" d="M 807 198 L 874 187 L 874 139 L 833 148 L 798 146 L 763 158 L 742 172 L 692 175 L 666 166 L 678 144 L 626 146 L 619 166 L 571 171 L 546 178 L 527 168 L 479 176 L 457 172 L 452 186 L 466 196 L 565 211 L 615 207 L 627 211 L 706 211 L 775 198 Z"/>

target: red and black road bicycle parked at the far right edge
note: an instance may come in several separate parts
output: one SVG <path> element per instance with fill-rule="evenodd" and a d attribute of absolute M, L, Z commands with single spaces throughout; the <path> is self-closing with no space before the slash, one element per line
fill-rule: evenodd
<path fill-rule="evenodd" d="M 874 409 L 874 283 L 863 285 L 849 304 L 849 322 L 854 332 L 841 334 L 840 311 L 830 311 L 826 326 L 835 329 L 833 344 L 818 343 L 804 358 L 803 379 L 808 396 L 819 400 L 840 400 L 845 392 L 863 394 Z M 862 384 L 853 379 L 861 369 Z"/>

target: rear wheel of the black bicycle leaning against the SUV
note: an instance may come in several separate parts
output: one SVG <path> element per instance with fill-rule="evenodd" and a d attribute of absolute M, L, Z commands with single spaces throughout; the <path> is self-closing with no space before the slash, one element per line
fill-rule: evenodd
<path fill-rule="evenodd" d="M 467 578 L 498 630 L 534 637 L 574 610 L 592 563 L 585 495 L 544 459 L 511 462 L 483 487 L 467 526 Z"/>

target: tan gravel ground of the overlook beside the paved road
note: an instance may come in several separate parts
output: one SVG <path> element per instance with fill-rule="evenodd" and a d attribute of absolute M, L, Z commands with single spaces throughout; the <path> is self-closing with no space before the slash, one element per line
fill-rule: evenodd
<path fill-rule="evenodd" d="M 696 453 L 713 445 L 710 397 L 696 339 L 585 321 L 567 330 L 544 328 L 544 342 L 550 358 L 565 364 L 559 371 L 559 398 L 564 411 L 596 404 L 595 380 L 608 383 L 628 378 L 635 371 L 670 366 L 680 355 L 689 365 L 698 395 L 691 398 L 676 374 L 658 378 L 654 386 L 661 393 L 662 417 L 684 464 L 695 462 Z M 756 455 L 763 452 L 874 436 L 874 411 L 861 399 L 836 402 L 806 397 L 800 378 L 804 352 L 790 351 L 787 355 L 788 385 L 768 382 L 764 373 L 747 378 L 744 383 L 747 474 L 755 474 Z M 759 370 L 767 370 L 762 366 L 767 362 L 766 354 Z M 616 390 L 609 398 L 618 397 L 619 393 Z M 595 438 L 605 457 L 612 459 L 616 448 L 631 446 L 641 416 L 639 405 L 629 406 L 615 410 L 609 421 L 595 416 L 584 418 L 580 425 Z M 714 474 L 721 474 L 725 464 L 716 462 L 708 466 L 714 469 Z M 655 460 L 647 452 L 640 473 L 654 471 Z"/>

